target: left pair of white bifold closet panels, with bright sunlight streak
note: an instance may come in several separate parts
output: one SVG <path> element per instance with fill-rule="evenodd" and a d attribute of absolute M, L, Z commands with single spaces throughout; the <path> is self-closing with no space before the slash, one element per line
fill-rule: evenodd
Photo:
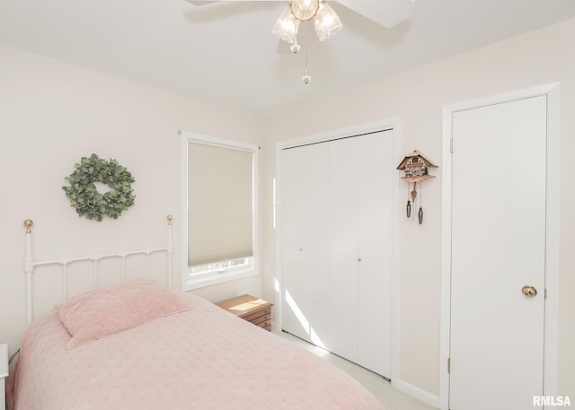
<path fill-rule="evenodd" d="M 282 327 L 323 346 L 327 328 L 329 146 L 282 152 Z"/>

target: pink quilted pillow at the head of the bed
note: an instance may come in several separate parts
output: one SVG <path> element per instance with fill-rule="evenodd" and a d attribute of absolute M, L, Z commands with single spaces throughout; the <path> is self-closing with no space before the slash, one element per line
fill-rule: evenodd
<path fill-rule="evenodd" d="M 54 307 L 72 335 L 68 349 L 187 309 L 172 292 L 151 280 L 95 289 Z"/>

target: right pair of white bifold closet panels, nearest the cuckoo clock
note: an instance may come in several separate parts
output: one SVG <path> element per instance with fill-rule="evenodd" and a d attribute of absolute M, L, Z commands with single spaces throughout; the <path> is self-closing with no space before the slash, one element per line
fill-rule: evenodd
<path fill-rule="evenodd" d="M 352 362 L 391 374 L 393 130 L 330 143 L 329 338 Z"/>

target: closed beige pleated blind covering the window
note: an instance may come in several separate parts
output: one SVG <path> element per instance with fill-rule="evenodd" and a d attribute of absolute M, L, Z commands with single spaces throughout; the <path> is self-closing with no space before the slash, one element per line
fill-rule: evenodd
<path fill-rule="evenodd" d="M 253 153 L 188 144 L 189 266 L 252 257 Z"/>

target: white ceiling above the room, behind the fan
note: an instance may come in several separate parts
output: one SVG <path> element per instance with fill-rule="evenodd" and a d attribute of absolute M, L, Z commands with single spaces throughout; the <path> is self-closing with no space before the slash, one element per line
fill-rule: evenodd
<path fill-rule="evenodd" d="M 0 0 L 0 43 L 266 113 L 575 17 L 573 0 L 415 0 L 386 29 L 331 4 L 342 31 L 320 43 L 303 23 L 297 55 L 271 34 L 287 1 Z"/>

